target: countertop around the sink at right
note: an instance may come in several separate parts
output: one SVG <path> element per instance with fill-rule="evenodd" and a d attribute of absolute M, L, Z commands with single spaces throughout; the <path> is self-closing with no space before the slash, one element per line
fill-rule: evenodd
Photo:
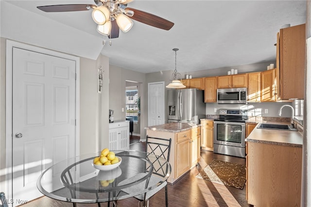
<path fill-rule="evenodd" d="M 282 121 L 260 121 L 259 123 L 290 124 Z M 258 124 L 259 124 L 258 123 Z M 258 129 L 256 128 L 245 139 L 245 141 L 276 144 L 283 146 L 302 147 L 303 136 L 299 131 Z"/>

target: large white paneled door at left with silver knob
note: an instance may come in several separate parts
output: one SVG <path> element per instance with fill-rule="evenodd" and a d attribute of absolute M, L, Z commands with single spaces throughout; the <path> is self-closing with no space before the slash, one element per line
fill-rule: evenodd
<path fill-rule="evenodd" d="M 40 173 L 75 155 L 75 61 L 13 48 L 13 199 L 42 194 Z"/>

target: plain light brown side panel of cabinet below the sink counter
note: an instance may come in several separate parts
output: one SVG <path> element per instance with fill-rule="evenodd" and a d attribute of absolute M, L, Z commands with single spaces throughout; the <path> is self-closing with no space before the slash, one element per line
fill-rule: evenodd
<path fill-rule="evenodd" d="M 247 203 L 299 207 L 301 166 L 302 147 L 247 142 Z"/>

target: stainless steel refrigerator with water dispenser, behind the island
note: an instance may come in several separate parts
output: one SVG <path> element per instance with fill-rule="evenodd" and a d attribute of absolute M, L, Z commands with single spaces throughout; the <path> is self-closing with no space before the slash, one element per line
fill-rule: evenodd
<path fill-rule="evenodd" d="M 205 118 L 204 91 L 195 88 L 168 89 L 168 122 L 200 123 Z"/>

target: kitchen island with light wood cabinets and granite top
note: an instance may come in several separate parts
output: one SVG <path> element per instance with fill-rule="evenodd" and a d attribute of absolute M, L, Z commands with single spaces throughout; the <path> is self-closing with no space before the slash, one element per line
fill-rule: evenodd
<path fill-rule="evenodd" d="M 168 183 L 173 184 L 195 166 L 200 158 L 200 125 L 173 122 L 145 127 L 149 137 L 172 138 L 170 164 L 172 173 Z"/>

